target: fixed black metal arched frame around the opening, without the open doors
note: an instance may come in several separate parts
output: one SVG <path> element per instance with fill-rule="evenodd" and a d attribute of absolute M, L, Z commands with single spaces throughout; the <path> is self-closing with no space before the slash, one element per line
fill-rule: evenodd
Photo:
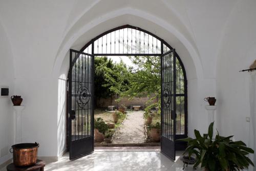
<path fill-rule="evenodd" d="M 156 39 L 158 39 L 158 40 L 160 40 L 160 42 L 161 42 L 161 53 L 159 54 L 159 53 L 156 53 L 156 54 L 149 54 L 149 53 L 147 53 L 147 54 L 145 54 L 145 53 L 136 53 L 136 54 L 134 54 L 134 53 L 105 53 L 105 54 L 103 54 L 103 53 L 101 53 L 101 54 L 99 54 L 99 53 L 94 53 L 94 41 L 95 40 L 97 40 L 97 39 L 99 39 L 100 37 L 102 37 L 102 36 L 104 36 L 104 35 L 106 35 L 106 34 L 108 34 L 108 33 L 111 33 L 111 32 L 114 32 L 114 31 L 116 31 L 116 30 L 120 30 L 120 29 L 126 29 L 126 28 L 130 28 L 130 29 L 136 29 L 136 30 L 138 30 L 138 31 L 141 31 L 141 32 L 144 32 L 144 33 L 146 33 L 146 34 L 148 34 L 148 35 L 151 35 L 151 36 L 153 36 L 154 38 L 156 38 Z M 134 26 L 130 26 L 130 25 L 124 25 L 124 26 L 120 26 L 120 27 L 116 27 L 116 28 L 114 28 L 114 29 L 111 29 L 111 30 L 108 30 L 108 31 L 105 31 L 105 32 L 103 32 L 102 34 L 99 34 L 98 36 L 96 36 L 95 38 L 93 38 L 92 40 L 90 40 L 89 42 L 87 42 L 87 44 L 86 45 L 84 45 L 81 49 L 80 49 L 80 51 L 79 52 L 83 52 L 87 47 L 89 47 L 90 45 L 92 45 L 92 56 L 93 56 L 93 73 L 92 73 L 92 75 L 93 75 L 93 80 L 94 80 L 94 56 L 163 56 L 165 53 L 164 53 L 164 49 L 163 49 L 163 46 L 166 46 L 167 48 L 169 48 L 170 50 L 173 50 L 173 48 L 169 45 L 169 44 L 167 44 L 167 42 L 165 41 L 165 40 L 163 40 L 163 39 L 161 39 L 160 37 L 158 37 L 157 35 L 155 35 L 155 34 L 153 34 L 153 33 L 151 33 L 151 32 L 148 32 L 148 31 L 146 31 L 146 30 L 144 30 L 144 29 L 141 29 L 141 28 L 138 28 L 138 27 L 134 27 Z M 184 76 L 184 94 L 175 94 L 176 96 L 184 96 L 184 113 L 185 113 L 185 130 L 184 130 L 184 135 L 176 135 L 175 136 L 175 139 L 179 139 L 179 138 L 185 138 L 185 137 L 187 137 L 187 79 L 186 79 L 186 71 L 185 71 L 185 68 L 184 68 L 184 65 L 183 65 L 183 63 L 182 63 L 182 61 L 181 61 L 181 59 L 180 59 L 180 57 L 179 57 L 179 55 L 177 54 L 177 53 L 175 53 L 175 56 L 176 56 L 176 59 L 179 61 L 179 63 L 180 63 L 180 66 L 181 66 L 181 68 L 182 68 L 182 71 L 183 71 L 183 76 Z M 161 60 L 162 60 L 162 58 L 161 58 Z M 161 61 L 162 62 L 162 61 Z M 72 68 L 72 66 L 74 65 L 74 63 L 72 62 L 72 64 L 70 64 L 70 69 Z M 176 63 L 175 63 L 175 68 L 176 68 Z M 161 74 L 162 74 L 162 72 L 161 72 Z M 161 75 L 161 78 L 162 78 L 162 75 Z M 69 80 L 69 78 L 68 78 L 68 80 Z M 175 82 L 176 82 L 176 77 L 175 77 Z M 71 89 L 71 88 L 69 88 L 69 89 Z M 161 91 L 162 92 L 162 91 Z M 94 81 L 93 81 L 93 93 L 94 93 Z M 162 94 L 161 94 L 162 95 Z M 94 94 L 93 94 L 93 96 L 94 96 Z M 175 98 L 175 100 L 176 100 L 176 98 Z M 161 101 L 161 105 L 162 105 L 162 101 Z M 176 106 L 176 105 L 175 105 Z M 93 100 L 93 109 L 94 109 L 94 100 Z M 162 115 L 161 115 L 161 120 L 162 120 Z M 94 123 L 92 123 L 92 124 L 94 124 Z M 94 125 L 93 125 L 94 126 Z M 175 128 L 176 129 L 176 128 Z M 70 131 L 70 130 L 69 130 Z M 68 133 L 69 134 L 69 133 Z M 68 135 L 67 134 L 67 135 Z M 186 144 L 184 144 L 184 143 L 181 143 L 181 142 L 176 142 L 176 150 L 183 150 L 183 149 L 185 149 L 185 147 L 186 147 Z"/>

